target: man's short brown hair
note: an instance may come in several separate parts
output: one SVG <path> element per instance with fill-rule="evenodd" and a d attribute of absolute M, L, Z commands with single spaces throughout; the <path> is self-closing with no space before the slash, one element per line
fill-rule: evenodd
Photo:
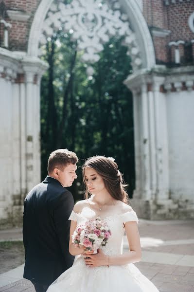
<path fill-rule="evenodd" d="M 78 162 L 77 155 L 68 149 L 54 150 L 48 160 L 48 173 L 53 172 L 54 168 L 64 169 L 68 164 L 76 164 Z"/>

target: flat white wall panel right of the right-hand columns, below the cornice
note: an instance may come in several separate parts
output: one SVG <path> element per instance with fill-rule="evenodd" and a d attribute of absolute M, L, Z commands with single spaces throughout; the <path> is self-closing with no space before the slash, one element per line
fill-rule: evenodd
<path fill-rule="evenodd" d="M 194 201 L 194 91 L 167 95 L 170 193 Z"/>

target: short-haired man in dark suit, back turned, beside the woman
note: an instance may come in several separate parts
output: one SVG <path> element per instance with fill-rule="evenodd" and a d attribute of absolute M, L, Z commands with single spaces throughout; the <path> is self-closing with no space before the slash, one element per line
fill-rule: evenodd
<path fill-rule="evenodd" d="M 65 187 L 76 175 L 78 158 L 74 152 L 58 149 L 48 160 L 48 176 L 37 184 L 24 201 L 23 242 L 24 278 L 45 292 L 49 285 L 72 266 L 69 253 L 73 197 Z"/>

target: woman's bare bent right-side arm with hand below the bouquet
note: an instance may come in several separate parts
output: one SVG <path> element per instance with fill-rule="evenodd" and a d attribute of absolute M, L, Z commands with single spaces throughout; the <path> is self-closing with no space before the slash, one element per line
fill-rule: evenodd
<path fill-rule="evenodd" d="M 136 221 L 126 222 L 124 224 L 126 236 L 129 243 L 129 252 L 119 256 L 106 256 L 101 250 L 97 255 L 88 256 L 85 259 L 87 265 L 125 265 L 135 263 L 141 260 L 141 244 L 138 225 Z"/>

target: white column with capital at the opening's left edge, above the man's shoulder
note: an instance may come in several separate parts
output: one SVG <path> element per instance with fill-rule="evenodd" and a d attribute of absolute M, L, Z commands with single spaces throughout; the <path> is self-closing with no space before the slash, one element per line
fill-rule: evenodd
<path fill-rule="evenodd" d="M 38 58 L 23 59 L 26 94 L 26 185 L 29 192 L 40 183 L 40 80 L 48 68 Z"/>

